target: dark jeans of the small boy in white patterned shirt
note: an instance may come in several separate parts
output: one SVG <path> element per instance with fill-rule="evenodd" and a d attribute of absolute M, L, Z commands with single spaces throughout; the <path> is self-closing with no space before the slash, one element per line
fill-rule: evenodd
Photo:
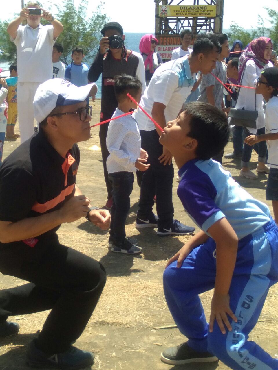
<path fill-rule="evenodd" d="M 133 172 L 113 172 L 109 174 L 109 180 L 112 182 L 111 225 L 110 238 L 117 245 L 125 241 L 125 224 L 130 208 L 130 194 L 133 189 Z"/>

